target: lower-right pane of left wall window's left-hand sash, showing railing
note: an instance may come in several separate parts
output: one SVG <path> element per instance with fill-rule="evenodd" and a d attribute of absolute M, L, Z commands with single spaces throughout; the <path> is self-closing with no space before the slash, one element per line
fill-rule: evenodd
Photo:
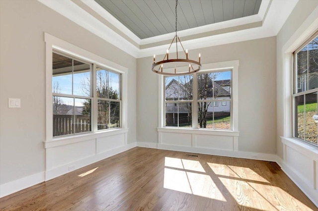
<path fill-rule="evenodd" d="M 75 99 L 75 133 L 91 131 L 90 99 Z"/>

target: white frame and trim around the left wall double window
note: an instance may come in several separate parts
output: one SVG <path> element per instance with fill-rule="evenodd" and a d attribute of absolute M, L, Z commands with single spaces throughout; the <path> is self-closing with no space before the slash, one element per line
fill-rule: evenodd
<path fill-rule="evenodd" d="M 128 132 L 128 119 L 127 119 L 127 75 L 128 68 L 123 67 L 119 64 L 116 64 L 112 61 L 109 61 L 101 56 L 98 56 L 94 53 L 88 52 L 84 49 L 81 49 L 73 44 L 65 42 L 59 38 L 56 38 L 48 33 L 44 33 L 44 41 L 46 45 L 46 145 L 64 145 L 68 143 L 74 143 L 84 139 L 113 135 L 118 133 L 127 133 Z M 53 51 L 65 53 L 71 55 L 72 57 L 84 60 L 86 62 L 93 64 L 93 69 L 95 66 L 105 68 L 106 70 L 113 71 L 121 74 L 121 112 L 120 112 L 120 128 L 98 130 L 97 124 L 94 125 L 91 132 L 78 133 L 66 136 L 57 136 L 53 137 L 53 100 L 52 100 L 52 53 Z M 92 81 L 96 81 L 93 79 Z M 95 93 L 95 86 L 93 85 L 92 92 Z M 92 121 L 96 118 L 97 115 L 97 104 L 92 106 Z M 55 142 L 54 144 L 50 144 Z"/>

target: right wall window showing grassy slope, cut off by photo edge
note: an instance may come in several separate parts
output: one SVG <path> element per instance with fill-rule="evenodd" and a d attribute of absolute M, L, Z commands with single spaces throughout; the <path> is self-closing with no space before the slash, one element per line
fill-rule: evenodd
<path fill-rule="evenodd" d="M 294 52 L 294 137 L 318 145 L 318 32 Z"/>

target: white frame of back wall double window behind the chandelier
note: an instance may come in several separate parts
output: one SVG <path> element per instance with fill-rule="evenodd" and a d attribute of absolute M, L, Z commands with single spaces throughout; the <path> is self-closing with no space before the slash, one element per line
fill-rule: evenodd
<path fill-rule="evenodd" d="M 158 131 L 169 131 L 169 130 L 204 130 L 208 134 L 218 133 L 222 131 L 223 133 L 233 133 L 239 132 L 239 107 L 238 107 L 238 93 L 239 93 L 239 60 L 223 61 L 216 63 L 207 63 L 202 64 L 202 68 L 198 73 L 207 73 L 207 72 L 217 72 L 222 70 L 232 70 L 232 105 L 231 105 L 231 130 L 218 130 L 218 129 L 206 129 L 206 128 L 197 128 L 198 120 L 196 118 L 197 114 L 197 104 L 196 101 L 192 104 L 192 128 L 180 128 L 180 127 L 165 127 L 165 101 L 164 101 L 164 76 L 159 74 L 159 130 Z M 172 71 L 172 70 L 171 70 Z M 193 74 L 193 79 L 197 78 L 197 73 Z M 197 90 L 197 83 L 193 83 L 193 90 Z M 193 98 L 197 98 L 197 95 L 193 93 Z"/>

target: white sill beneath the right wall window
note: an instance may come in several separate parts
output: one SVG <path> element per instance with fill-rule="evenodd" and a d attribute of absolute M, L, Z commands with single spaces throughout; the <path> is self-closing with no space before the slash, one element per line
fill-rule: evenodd
<path fill-rule="evenodd" d="M 318 160 L 318 148 L 315 146 L 311 146 L 309 144 L 304 143 L 301 140 L 295 139 L 295 138 L 286 138 L 281 137 L 282 143 L 286 146 L 304 154 L 307 155 L 310 158 L 313 158 L 315 160 Z"/>

